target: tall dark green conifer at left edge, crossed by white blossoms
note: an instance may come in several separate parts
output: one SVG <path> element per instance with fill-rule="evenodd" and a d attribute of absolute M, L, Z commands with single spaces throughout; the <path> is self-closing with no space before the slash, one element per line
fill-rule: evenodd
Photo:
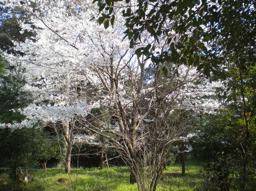
<path fill-rule="evenodd" d="M 12 177 L 18 182 L 21 174 L 28 176 L 22 168 L 34 166 L 35 156 L 42 158 L 47 149 L 44 146 L 50 142 L 43 131 L 22 124 L 26 116 L 21 111 L 33 97 L 24 89 L 25 70 L 19 64 L 9 68 L 0 81 L 0 158 L 2 165 L 12 168 Z M 51 157 L 49 151 L 44 157 Z"/>

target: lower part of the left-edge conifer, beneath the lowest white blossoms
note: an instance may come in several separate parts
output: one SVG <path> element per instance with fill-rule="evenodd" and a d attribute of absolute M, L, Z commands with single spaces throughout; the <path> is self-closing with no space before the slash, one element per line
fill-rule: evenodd
<path fill-rule="evenodd" d="M 0 146 L 1 166 L 11 168 L 10 175 L 16 182 L 27 182 L 28 169 L 35 167 L 38 160 L 57 158 L 56 150 L 51 150 L 53 142 L 36 127 L 0 129 Z M 46 167 L 46 162 L 44 165 Z"/>

